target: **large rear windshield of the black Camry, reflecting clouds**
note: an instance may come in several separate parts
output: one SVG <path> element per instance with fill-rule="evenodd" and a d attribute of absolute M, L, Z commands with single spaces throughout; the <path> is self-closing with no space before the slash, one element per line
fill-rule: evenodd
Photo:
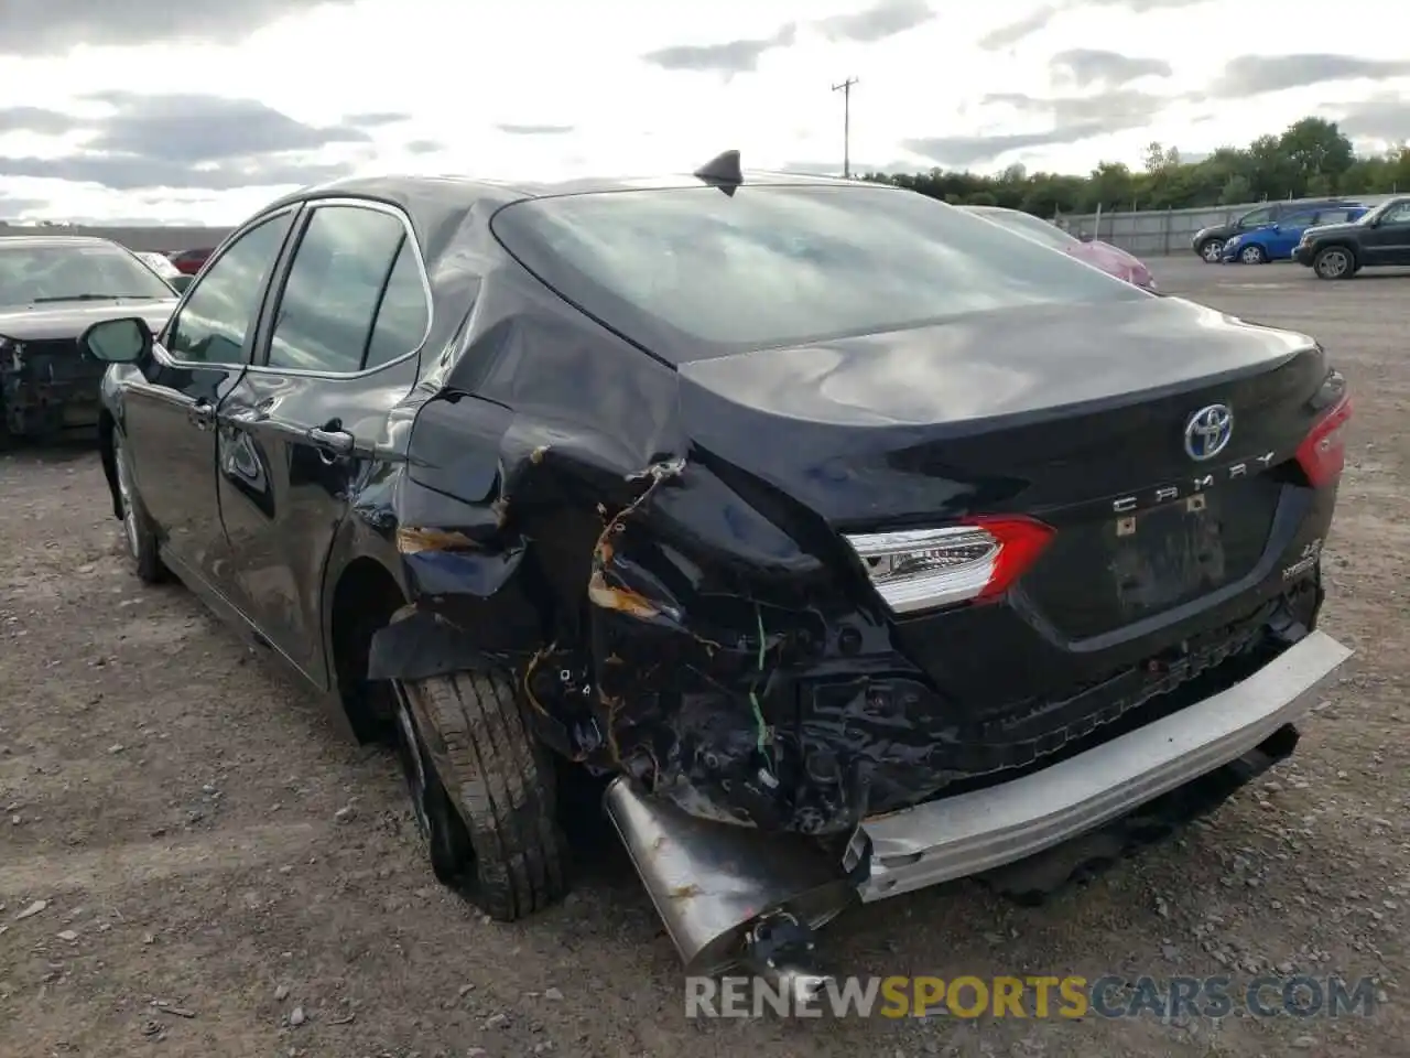
<path fill-rule="evenodd" d="M 864 183 L 527 199 L 492 227 L 560 295 L 677 363 L 1146 296 L 942 202 Z"/>

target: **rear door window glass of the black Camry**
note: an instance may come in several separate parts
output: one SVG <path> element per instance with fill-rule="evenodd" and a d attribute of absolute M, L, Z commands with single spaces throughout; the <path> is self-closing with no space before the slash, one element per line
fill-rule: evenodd
<path fill-rule="evenodd" d="M 402 220 L 382 210 L 316 209 L 293 254 L 275 313 L 269 367 L 361 370 L 382 291 L 405 237 Z"/>

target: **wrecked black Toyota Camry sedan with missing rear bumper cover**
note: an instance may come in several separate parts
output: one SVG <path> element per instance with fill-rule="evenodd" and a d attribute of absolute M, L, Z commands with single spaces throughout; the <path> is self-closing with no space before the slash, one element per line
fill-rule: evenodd
<path fill-rule="evenodd" d="M 1348 655 L 1324 350 L 900 188 L 344 181 L 85 341 L 137 574 L 399 746 L 499 918 L 564 774 L 702 965 L 839 910 L 783 849 L 880 899 L 1237 786 Z"/>

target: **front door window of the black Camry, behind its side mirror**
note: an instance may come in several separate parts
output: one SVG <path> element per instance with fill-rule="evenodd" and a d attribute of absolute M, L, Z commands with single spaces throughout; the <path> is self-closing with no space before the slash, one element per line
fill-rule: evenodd
<path fill-rule="evenodd" d="M 245 340 L 292 217 L 292 212 L 281 213 L 250 229 L 206 269 L 171 327 L 166 348 L 173 357 L 197 364 L 245 363 Z"/>

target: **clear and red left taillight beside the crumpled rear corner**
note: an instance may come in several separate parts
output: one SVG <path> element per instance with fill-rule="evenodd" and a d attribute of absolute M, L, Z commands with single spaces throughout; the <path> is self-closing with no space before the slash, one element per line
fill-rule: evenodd
<path fill-rule="evenodd" d="M 943 529 L 860 533 L 846 540 L 885 604 L 911 614 L 1003 595 L 1052 535 L 1031 518 L 974 518 Z"/>

